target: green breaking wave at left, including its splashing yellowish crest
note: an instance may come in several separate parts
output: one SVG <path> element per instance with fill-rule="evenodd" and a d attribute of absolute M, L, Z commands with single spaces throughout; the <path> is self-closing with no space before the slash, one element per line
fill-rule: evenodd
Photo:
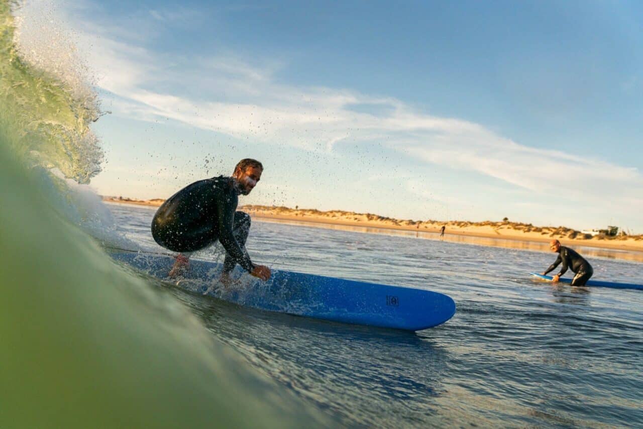
<path fill-rule="evenodd" d="M 63 181 L 35 166 L 89 181 L 99 111 L 21 59 L 15 6 L 0 0 L 0 427 L 327 423 L 60 210 Z"/>

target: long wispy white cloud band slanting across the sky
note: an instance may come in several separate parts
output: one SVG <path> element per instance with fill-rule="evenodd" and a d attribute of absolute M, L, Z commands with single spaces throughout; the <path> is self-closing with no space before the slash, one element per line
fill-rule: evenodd
<path fill-rule="evenodd" d="M 190 19 L 192 12 L 149 13 L 151 19 L 165 22 Z M 230 54 L 170 57 L 118 31 L 90 23 L 80 27 L 98 86 L 118 96 L 116 114 L 146 121 L 170 118 L 306 151 L 333 153 L 341 145 L 372 144 L 374 152 L 385 147 L 426 165 L 473 172 L 529 192 L 594 204 L 608 198 L 623 209 L 643 210 L 643 176 L 634 168 L 583 153 L 521 145 L 482 124 L 431 115 L 395 98 L 284 84 L 278 77 L 287 64 L 280 62 Z"/>

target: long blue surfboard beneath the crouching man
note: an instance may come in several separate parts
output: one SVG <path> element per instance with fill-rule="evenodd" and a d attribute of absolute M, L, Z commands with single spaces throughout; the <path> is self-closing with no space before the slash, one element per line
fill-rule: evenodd
<path fill-rule="evenodd" d="M 240 284 L 222 288 L 222 264 L 190 260 L 180 280 L 167 277 L 174 258 L 143 253 L 111 253 L 120 262 L 161 280 L 242 306 L 349 324 L 420 331 L 443 324 L 455 302 L 442 293 L 341 278 L 273 270 L 267 282 L 242 275 Z"/>

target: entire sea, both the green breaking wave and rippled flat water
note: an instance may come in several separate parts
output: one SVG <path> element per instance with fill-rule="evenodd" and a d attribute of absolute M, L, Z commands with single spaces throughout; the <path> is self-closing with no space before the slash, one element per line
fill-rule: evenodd
<path fill-rule="evenodd" d="M 87 187 L 96 95 L 24 59 L 14 6 L 0 0 L 1 428 L 643 426 L 642 291 L 532 280 L 550 252 L 253 221 L 256 263 L 455 300 L 417 333 L 258 311 L 114 262 L 164 251 L 154 208 Z M 590 261 L 643 283 L 636 260 Z"/>

